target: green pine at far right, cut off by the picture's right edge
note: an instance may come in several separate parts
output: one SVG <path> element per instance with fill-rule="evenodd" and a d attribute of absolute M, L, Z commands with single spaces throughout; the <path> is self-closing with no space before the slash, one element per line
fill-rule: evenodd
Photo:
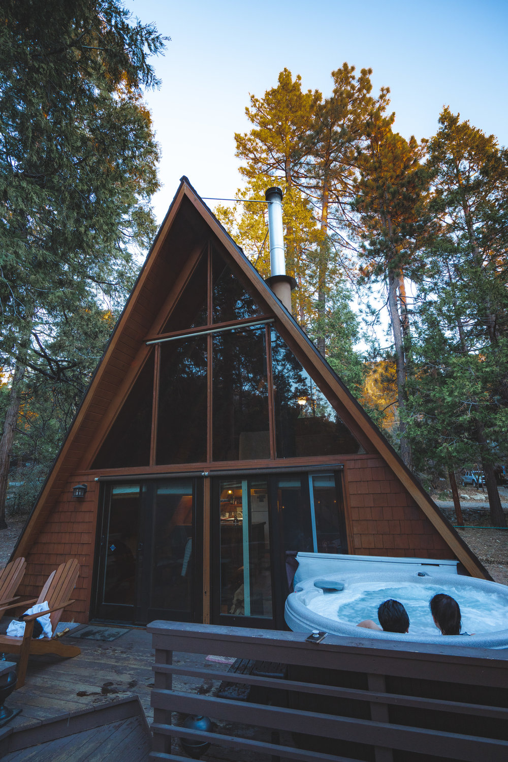
<path fill-rule="evenodd" d="M 494 525 L 504 526 L 494 466 L 507 451 L 508 152 L 449 108 L 439 117 L 429 149 L 438 227 L 425 251 L 428 288 L 441 306 L 440 329 L 455 337 L 455 405 L 465 401 L 465 436 L 476 443 Z M 472 377 L 475 386 L 466 394 L 462 383 Z"/>

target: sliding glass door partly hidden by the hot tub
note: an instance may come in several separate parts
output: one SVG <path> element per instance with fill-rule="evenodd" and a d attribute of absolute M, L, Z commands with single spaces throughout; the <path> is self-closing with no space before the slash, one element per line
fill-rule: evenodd
<path fill-rule="evenodd" d="M 283 627 L 286 554 L 347 553 L 339 471 L 215 479 L 212 622 Z"/>

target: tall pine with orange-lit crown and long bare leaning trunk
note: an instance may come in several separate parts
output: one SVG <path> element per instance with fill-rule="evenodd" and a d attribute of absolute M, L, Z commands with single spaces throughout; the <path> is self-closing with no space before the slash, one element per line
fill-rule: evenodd
<path fill-rule="evenodd" d="M 406 382 L 411 357 L 411 331 L 404 276 L 426 231 L 425 204 L 429 174 L 420 165 L 424 146 L 394 133 L 395 114 L 372 110 L 366 124 L 367 141 L 359 154 L 355 208 L 359 214 L 362 274 L 383 283 L 395 346 L 401 456 L 412 468 L 407 426 Z"/>

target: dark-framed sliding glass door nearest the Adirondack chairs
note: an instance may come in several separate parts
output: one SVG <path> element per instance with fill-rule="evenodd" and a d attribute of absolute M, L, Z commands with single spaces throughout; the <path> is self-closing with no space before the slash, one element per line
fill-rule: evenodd
<path fill-rule="evenodd" d="M 202 514 L 201 480 L 107 485 L 96 616 L 139 624 L 200 621 Z"/>

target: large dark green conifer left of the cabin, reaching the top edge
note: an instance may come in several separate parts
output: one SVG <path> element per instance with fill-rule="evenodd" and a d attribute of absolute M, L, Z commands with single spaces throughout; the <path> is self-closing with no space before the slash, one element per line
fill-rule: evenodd
<path fill-rule="evenodd" d="M 1 361 L 11 392 L 0 442 L 0 525 L 27 368 L 48 326 L 88 299 L 124 296 L 155 230 L 158 147 L 143 86 L 164 40 L 120 0 L 6 0 L 0 9 Z M 65 362 L 45 357 L 46 367 Z"/>

